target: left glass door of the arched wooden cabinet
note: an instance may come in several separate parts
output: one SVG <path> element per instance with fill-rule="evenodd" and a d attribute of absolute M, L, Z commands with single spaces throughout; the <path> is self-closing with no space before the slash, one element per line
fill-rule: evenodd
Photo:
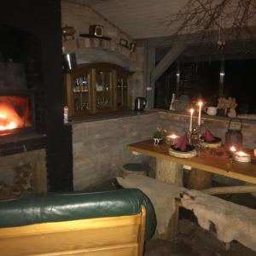
<path fill-rule="evenodd" d="M 90 110 L 89 74 L 73 77 L 73 109 L 75 113 Z"/>

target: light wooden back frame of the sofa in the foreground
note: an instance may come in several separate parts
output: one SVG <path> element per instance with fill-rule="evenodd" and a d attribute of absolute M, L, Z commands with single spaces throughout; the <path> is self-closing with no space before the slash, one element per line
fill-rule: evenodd
<path fill-rule="evenodd" d="M 142 256 L 146 210 L 137 215 L 89 218 L 0 229 L 4 256 Z"/>

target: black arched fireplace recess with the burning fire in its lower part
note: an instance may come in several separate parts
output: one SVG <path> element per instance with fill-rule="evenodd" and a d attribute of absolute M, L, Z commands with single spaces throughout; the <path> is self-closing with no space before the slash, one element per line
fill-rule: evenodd
<path fill-rule="evenodd" d="M 0 23 L 0 137 L 44 132 L 44 79 L 40 42 Z"/>

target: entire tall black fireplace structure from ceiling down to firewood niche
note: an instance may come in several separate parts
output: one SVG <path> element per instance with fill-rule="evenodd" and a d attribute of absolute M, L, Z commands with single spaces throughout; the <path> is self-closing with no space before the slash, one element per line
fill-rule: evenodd
<path fill-rule="evenodd" d="M 44 188 L 38 189 L 37 185 L 35 191 L 44 191 L 45 187 L 49 191 L 70 191 L 72 126 L 63 124 L 61 1 L 0 2 L 0 102 L 22 102 L 22 106 L 11 107 L 8 103 L 21 121 L 18 127 L 12 129 L 10 125 L 11 129 L 1 131 L 0 181 L 8 188 L 16 187 L 16 171 L 25 168 L 35 173 L 33 183 L 41 185 L 45 179 L 41 176 L 47 177 Z M 3 125 L 11 121 L 2 115 Z M 44 151 L 41 167 L 38 156 L 31 161 L 31 154 L 38 150 Z M 12 166 L 16 155 L 24 158 Z"/>

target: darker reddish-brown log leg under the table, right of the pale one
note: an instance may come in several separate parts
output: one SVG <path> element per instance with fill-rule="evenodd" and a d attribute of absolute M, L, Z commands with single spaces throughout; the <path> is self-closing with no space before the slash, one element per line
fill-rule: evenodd
<path fill-rule="evenodd" d="M 199 169 L 192 169 L 189 172 L 188 189 L 208 189 L 212 187 L 212 173 L 201 171 Z"/>

